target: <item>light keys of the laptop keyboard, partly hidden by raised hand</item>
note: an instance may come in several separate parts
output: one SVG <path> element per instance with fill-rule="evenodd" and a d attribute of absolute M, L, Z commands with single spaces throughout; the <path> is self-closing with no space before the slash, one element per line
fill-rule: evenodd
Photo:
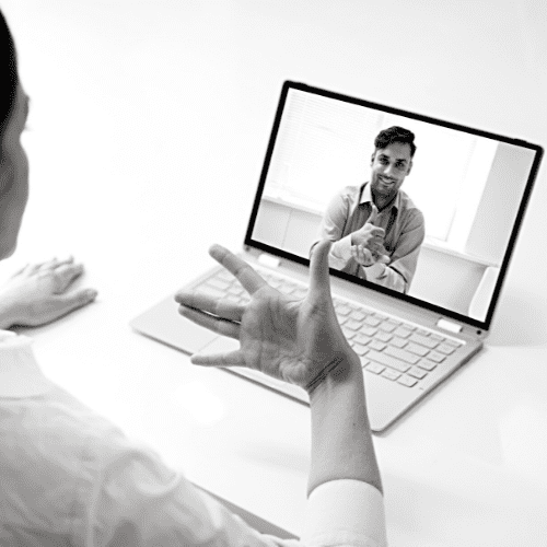
<path fill-rule="evenodd" d="M 283 294 L 303 298 L 307 292 L 304 283 L 255 269 Z M 249 302 L 247 292 L 226 270 L 206 279 L 196 290 L 238 304 Z M 333 301 L 344 335 L 360 357 L 363 370 L 408 388 L 418 387 L 464 344 L 350 300 L 335 296 Z"/>

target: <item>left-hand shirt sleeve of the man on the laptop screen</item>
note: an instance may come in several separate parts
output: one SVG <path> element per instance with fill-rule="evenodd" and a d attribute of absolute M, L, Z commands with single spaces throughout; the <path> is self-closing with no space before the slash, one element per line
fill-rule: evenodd
<path fill-rule="evenodd" d="M 328 203 L 311 247 L 312 251 L 322 240 L 334 242 L 328 255 L 328 265 L 338 270 L 341 270 L 351 258 L 351 234 L 341 237 L 348 214 L 349 201 L 345 191 L 341 191 Z"/>

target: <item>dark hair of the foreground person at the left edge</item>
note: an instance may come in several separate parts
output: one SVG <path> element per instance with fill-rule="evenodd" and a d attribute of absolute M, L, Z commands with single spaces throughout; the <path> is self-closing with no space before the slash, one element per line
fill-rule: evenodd
<path fill-rule="evenodd" d="M 0 138 L 3 137 L 5 125 L 15 105 L 18 90 L 18 59 L 15 45 L 8 23 L 0 10 Z M 2 150 L 0 149 L 0 159 Z"/>

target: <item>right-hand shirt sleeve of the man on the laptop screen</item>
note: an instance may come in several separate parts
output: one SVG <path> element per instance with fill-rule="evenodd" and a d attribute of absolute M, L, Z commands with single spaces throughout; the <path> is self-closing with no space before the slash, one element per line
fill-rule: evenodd
<path fill-rule="evenodd" d="M 400 233 L 391 263 L 387 266 L 375 264 L 363 268 L 366 279 L 394 291 L 407 293 L 416 272 L 420 247 L 424 238 L 423 214 L 415 209 Z"/>

